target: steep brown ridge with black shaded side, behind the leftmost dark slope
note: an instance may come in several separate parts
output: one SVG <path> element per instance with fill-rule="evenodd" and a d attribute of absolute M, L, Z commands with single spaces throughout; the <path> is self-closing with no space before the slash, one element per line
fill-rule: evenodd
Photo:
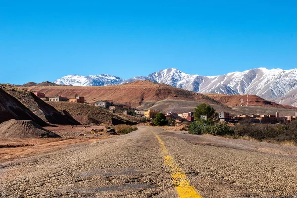
<path fill-rule="evenodd" d="M 69 115 L 63 115 L 57 111 L 54 107 L 42 99 L 35 96 L 32 92 L 29 92 L 22 88 L 6 86 L 4 91 L 18 99 L 22 104 L 29 108 L 35 115 L 40 117 L 46 122 L 51 124 L 80 124 Z"/>

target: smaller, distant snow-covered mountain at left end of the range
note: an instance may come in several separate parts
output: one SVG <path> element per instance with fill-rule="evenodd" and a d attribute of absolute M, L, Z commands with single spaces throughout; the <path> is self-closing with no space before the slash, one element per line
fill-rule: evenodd
<path fill-rule="evenodd" d="M 80 76 L 68 75 L 55 80 L 53 83 L 58 85 L 74 85 L 74 86 L 105 86 L 105 85 L 118 85 L 124 79 L 118 76 L 111 76 L 109 74 L 101 74 L 97 76 Z"/>

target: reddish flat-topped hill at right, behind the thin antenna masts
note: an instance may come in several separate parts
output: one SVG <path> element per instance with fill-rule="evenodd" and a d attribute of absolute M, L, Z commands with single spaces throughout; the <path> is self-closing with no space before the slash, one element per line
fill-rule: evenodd
<path fill-rule="evenodd" d="M 235 106 L 241 106 L 241 100 L 244 99 L 243 106 L 247 105 L 247 95 L 224 95 L 224 94 L 204 94 L 212 99 L 215 99 L 231 108 Z M 263 107 L 275 107 L 275 108 L 287 108 L 291 109 L 291 106 L 280 105 L 266 99 L 262 99 L 256 95 L 248 95 L 248 106 L 263 106 Z"/>

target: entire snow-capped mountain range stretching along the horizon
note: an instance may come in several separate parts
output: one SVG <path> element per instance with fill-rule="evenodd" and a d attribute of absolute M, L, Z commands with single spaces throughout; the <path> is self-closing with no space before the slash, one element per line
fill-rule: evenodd
<path fill-rule="evenodd" d="M 54 83 L 73 86 L 105 86 L 125 84 L 136 80 L 149 80 L 198 93 L 257 95 L 263 99 L 294 106 L 297 93 L 297 69 L 256 68 L 220 76 L 200 76 L 168 68 L 148 76 L 136 76 L 127 80 L 109 74 L 68 75 L 55 80 Z"/>

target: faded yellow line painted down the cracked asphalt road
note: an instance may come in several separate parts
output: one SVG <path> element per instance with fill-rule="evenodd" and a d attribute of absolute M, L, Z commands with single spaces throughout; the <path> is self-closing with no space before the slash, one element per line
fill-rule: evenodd
<path fill-rule="evenodd" d="M 178 196 L 180 198 L 202 198 L 198 194 L 195 187 L 190 185 L 190 181 L 187 179 L 184 171 L 178 167 L 174 159 L 169 155 L 160 137 L 155 133 L 154 135 L 160 143 L 161 150 L 164 155 L 164 163 L 170 168 L 171 177 L 173 179 L 173 184 L 175 185 Z"/>

